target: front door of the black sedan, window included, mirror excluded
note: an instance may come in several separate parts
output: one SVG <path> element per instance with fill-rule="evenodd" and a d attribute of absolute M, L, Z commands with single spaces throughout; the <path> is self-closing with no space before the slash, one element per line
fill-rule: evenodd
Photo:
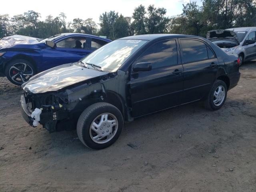
<path fill-rule="evenodd" d="M 149 62 L 150 71 L 131 71 L 132 114 L 142 116 L 181 104 L 183 67 L 177 39 L 156 42 L 132 64 Z"/>

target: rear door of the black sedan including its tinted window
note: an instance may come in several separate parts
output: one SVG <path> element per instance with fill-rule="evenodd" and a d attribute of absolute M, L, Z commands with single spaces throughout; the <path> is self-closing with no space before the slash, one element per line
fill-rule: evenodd
<path fill-rule="evenodd" d="M 218 59 L 213 50 L 201 40 L 180 38 L 181 61 L 184 68 L 183 103 L 205 96 L 218 72 Z"/>

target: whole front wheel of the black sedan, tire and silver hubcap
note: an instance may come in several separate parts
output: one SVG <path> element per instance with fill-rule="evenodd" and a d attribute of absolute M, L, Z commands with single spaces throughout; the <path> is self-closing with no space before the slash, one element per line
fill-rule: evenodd
<path fill-rule="evenodd" d="M 82 112 L 76 131 L 85 146 L 91 149 L 103 149 L 118 139 L 123 126 L 124 119 L 120 110 L 112 104 L 99 102 Z"/>

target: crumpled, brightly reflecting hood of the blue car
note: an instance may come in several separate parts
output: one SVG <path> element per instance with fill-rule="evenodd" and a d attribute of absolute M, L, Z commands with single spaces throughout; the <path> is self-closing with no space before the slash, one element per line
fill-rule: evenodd
<path fill-rule="evenodd" d="M 0 49 L 9 48 L 17 44 L 38 44 L 38 39 L 23 35 L 12 35 L 0 40 Z"/>

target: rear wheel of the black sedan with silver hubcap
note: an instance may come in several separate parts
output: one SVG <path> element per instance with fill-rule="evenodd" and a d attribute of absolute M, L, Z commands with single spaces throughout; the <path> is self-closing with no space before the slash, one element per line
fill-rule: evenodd
<path fill-rule="evenodd" d="M 219 94 L 216 96 L 216 93 L 217 93 L 216 90 L 218 88 L 218 91 L 219 91 L 220 89 L 219 87 L 221 88 L 222 91 L 220 91 Z M 224 90 L 224 93 L 223 93 L 223 90 Z M 228 89 L 227 89 L 226 83 L 222 80 L 216 80 L 213 83 L 212 88 L 210 89 L 206 100 L 204 101 L 205 107 L 210 110 L 220 109 L 223 106 L 224 102 L 226 101 L 227 92 L 228 92 Z"/>

